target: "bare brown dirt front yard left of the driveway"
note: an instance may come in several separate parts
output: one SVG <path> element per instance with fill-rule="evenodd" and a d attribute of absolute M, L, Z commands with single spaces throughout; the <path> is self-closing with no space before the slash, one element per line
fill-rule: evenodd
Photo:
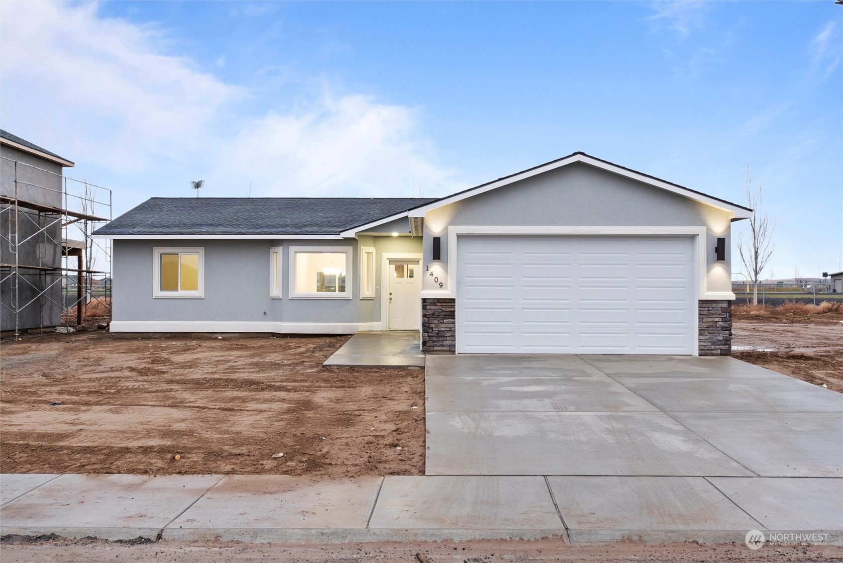
<path fill-rule="evenodd" d="M 421 475 L 424 370 L 322 367 L 346 340 L 5 340 L 0 470 Z"/>

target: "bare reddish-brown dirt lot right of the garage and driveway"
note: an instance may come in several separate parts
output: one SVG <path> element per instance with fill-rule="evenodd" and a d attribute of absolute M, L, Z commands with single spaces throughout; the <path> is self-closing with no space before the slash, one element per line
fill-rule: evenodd
<path fill-rule="evenodd" d="M 733 357 L 843 393 L 843 308 L 733 308 Z"/>

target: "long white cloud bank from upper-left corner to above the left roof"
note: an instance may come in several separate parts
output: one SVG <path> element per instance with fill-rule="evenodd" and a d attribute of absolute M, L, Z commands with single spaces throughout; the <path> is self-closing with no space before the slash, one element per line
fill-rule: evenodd
<path fill-rule="evenodd" d="M 128 186 L 144 196 L 171 195 L 166 186 L 196 170 L 217 196 L 245 195 L 250 180 L 264 196 L 409 196 L 413 183 L 429 192 L 448 183 L 416 110 L 361 94 L 282 110 L 282 100 L 256 99 L 169 53 L 174 44 L 97 4 L 4 2 L 3 128 L 67 147 L 78 164 L 156 178 Z M 250 115 L 252 102 L 277 109 Z"/>

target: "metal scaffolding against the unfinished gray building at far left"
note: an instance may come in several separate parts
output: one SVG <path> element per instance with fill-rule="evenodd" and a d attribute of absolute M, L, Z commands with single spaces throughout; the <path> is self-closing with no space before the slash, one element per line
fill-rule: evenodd
<path fill-rule="evenodd" d="M 7 319 L 0 331 L 19 335 L 75 327 L 89 318 L 95 304 L 110 321 L 111 244 L 91 235 L 111 220 L 111 190 L 19 160 L 0 160 L 3 167 L 13 167 L 13 186 L 3 186 L 0 195 L 0 244 L 8 248 L 6 260 L 0 261 L 0 308 Z M 56 180 L 60 188 L 35 184 L 30 177 Z M 31 201 L 39 194 L 45 196 L 42 201 L 62 203 Z M 38 325 L 24 322 L 36 310 Z"/>

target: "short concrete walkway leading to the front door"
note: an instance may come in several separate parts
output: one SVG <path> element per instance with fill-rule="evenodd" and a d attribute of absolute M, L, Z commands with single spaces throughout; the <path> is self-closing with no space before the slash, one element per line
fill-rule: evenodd
<path fill-rule="evenodd" d="M 353 335 L 325 360 L 329 367 L 424 367 L 418 330 L 372 330 Z"/>

